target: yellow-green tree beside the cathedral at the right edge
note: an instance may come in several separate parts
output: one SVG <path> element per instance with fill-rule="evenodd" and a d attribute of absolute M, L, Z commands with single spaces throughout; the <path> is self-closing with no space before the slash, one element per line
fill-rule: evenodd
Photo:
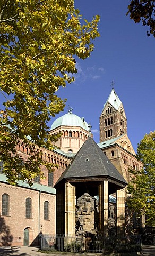
<path fill-rule="evenodd" d="M 146 134 L 137 148 L 137 159 L 143 163 L 141 170 L 131 170 L 128 185 L 128 206 L 139 216 L 145 214 L 147 223 L 155 225 L 155 131 Z"/>

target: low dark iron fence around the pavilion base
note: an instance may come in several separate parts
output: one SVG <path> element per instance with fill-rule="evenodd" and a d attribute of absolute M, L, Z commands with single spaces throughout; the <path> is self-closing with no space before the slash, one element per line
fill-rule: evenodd
<path fill-rule="evenodd" d="M 141 250 L 141 236 L 131 236 L 121 240 L 85 234 L 85 236 L 65 236 L 64 234 L 41 235 L 40 249 L 60 252 L 134 252 Z"/>

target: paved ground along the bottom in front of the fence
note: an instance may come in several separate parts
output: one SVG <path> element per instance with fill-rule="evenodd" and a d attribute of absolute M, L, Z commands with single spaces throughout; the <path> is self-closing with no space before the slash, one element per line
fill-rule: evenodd
<path fill-rule="evenodd" d="M 0 247 L 0 255 L 1 256 L 47 256 L 47 255 L 50 255 L 50 256 L 58 256 L 58 255 L 75 256 L 75 254 L 72 254 L 72 253 L 45 254 L 45 253 L 38 252 L 37 247 L 28 247 L 28 246 L 22 246 L 21 249 L 11 249 L 10 247 Z M 82 254 L 76 254 L 76 255 L 82 255 Z M 94 256 L 95 254 L 84 253 L 83 255 Z M 98 253 L 97 255 L 101 255 L 101 253 Z M 143 256 L 155 256 L 155 246 L 144 245 L 142 255 Z"/>

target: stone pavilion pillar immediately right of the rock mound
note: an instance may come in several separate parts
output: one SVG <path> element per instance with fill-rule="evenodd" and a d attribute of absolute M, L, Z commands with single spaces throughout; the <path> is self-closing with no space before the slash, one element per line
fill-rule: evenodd
<path fill-rule="evenodd" d="M 99 185 L 99 234 L 108 236 L 108 181 Z"/>

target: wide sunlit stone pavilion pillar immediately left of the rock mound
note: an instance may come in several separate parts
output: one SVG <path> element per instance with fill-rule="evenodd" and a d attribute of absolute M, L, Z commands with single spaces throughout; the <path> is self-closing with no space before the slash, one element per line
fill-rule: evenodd
<path fill-rule="evenodd" d="M 65 184 L 65 236 L 75 235 L 75 186 Z"/>

